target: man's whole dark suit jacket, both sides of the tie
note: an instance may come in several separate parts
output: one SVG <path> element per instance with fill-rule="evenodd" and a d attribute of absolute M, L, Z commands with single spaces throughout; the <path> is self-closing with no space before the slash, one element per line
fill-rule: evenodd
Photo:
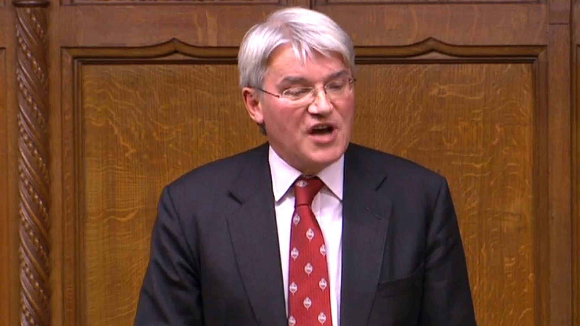
<path fill-rule="evenodd" d="M 340 298 L 341 326 L 476 324 L 442 176 L 349 145 Z M 165 187 L 135 324 L 287 325 L 267 144 Z"/>

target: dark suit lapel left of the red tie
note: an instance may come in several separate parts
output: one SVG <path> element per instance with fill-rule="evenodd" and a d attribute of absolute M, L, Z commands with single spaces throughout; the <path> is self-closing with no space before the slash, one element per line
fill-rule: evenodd
<path fill-rule="evenodd" d="M 231 195 L 240 207 L 228 226 L 242 282 L 259 325 L 284 326 L 286 312 L 267 146 L 248 158 Z"/>

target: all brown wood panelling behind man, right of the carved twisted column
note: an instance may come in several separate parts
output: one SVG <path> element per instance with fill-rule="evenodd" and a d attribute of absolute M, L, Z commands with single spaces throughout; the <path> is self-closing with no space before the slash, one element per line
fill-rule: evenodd
<path fill-rule="evenodd" d="M 50 9 L 55 325 L 131 324 L 162 185 L 263 139 L 243 111 L 231 53 L 215 65 L 215 58 L 192 59 L 215 49 L 174 41 L 166 45 L 186 56 L 135 58 L 169 55 L 148 46 L 174 38 L 237 46 L 247 28 L 284 0 L 121 1 L 63 0 Z M 566 187 L 569 160 L 567 116 L 559 109 L 566 86 L 553 82 L 567 59 L 561 59 L 565 49 L 553 50 L 564 44 L 554 42 L 562 32 L 548 28 L 548 21 L 565 22 L 565 10 L 554 13 L 556 6 L 534 1 L 312 2 L 349 31 L 362 57 L 367 46 L 391 46 L 390 62 L 360 66 L 355 139 L 448 177 L 480 325 L 569 325 L 570 240 L 561 230 L 570 226 L 570 198 L 559 188 Z M 1 17 L 0 28 L 8 24 Z M 6 35 L 0 32 L 0 46 Z M 462 52 L 447 60 L 424 55 L 432 40 L 412 45 L 428 38 Z M 490 46 L 477 61 L 471 51 L 481 45 Z M 547 47 L 548 59 L 528 53 L 530 45 Z M 225 115 L 210 110 L 216 107 Z M 241 140 L 229 142 L 235 132 Z"/>

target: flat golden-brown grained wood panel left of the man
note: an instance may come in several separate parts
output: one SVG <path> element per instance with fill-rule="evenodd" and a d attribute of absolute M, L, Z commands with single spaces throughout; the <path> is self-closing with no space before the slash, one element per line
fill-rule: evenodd
<path fill-rule="evenodd" d="M 162 187 L 264 139 L 241 102 L 235 65 L 85 65 L 80 83 L 84 317 L 128 325 Z"/>

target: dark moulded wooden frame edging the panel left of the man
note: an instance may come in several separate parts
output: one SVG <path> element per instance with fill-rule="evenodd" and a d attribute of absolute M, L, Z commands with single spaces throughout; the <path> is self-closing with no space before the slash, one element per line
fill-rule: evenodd
<path fill-rule="evenodd" d="M 237 48 L 201 48 L 172 39 L 145 48 L 64 48 L 62 92 L 63 234 L 62 287 L 63 324 L 84 326 L 86 289 L 84 112 L 82 112 L 82 69 L 98 64 L 235 64 Z"/>

